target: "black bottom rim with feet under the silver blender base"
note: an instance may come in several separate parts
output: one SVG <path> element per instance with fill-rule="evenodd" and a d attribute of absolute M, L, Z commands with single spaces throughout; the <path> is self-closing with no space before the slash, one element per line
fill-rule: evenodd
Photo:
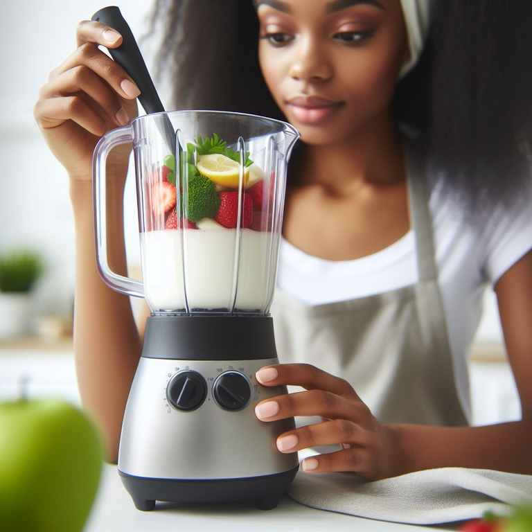
<path fill-rule="evenodd" d="M 205 503 L 252 501 L 258 510 L 276 508 L 283 493 L 290 487 L 299 465 L 290 471 L 220 480 L 175 480 L 133 477 L 118 470 L 122 483 L 130 493 L 138 510 L 150 511 L 155 501 Z"/>

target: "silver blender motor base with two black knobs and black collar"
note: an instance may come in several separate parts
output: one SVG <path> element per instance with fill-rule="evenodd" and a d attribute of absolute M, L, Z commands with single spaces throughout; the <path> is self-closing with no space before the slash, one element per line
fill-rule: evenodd
<path fill-rule="evenodd" d="M 278 364 L 270 317 L 148 318 L 118 452 L 136 508 L 152 510 L 156 501 L 277 506 L 299 460 L 275 443 L 295 428 L 294 418 L 263 423 L 254 414 L 261 400 L 287 393 L 256 381 L 269 364 Z"/>

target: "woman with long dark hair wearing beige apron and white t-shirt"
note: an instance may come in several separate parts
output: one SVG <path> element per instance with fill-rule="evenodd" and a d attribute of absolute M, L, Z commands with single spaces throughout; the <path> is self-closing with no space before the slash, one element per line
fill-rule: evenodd
<path fill-rule="evenodd" d="M 520 62 L 530 6 L 507 4 L 157 5 L 154 28 L 165 35 L 161 64 L 176 107 L 285 116 L 301 132 L 272 306 L 279 357 L 290 364 L 256 377 L 308 391 L 262 402 L 256 415 L 265 423 L 321 417 L 277 441 L 280 452 L 342 445 L 303 461 L 304 470 L 366 479 L 445 466 L 532 473 L 531 76 Z M 428 14 L 434 25 L 418 61 Z M 257 35 L 273 101 L 254 60 Z M 96 48 L 120 43 L 111 28 L 82 22 L 78 50 L 53 71 L 35 107 L 71 178 L 76 367 L 110 461 L 143 337 L 127 299 L 94 267 L 92 148 L 134 116 L 139 94 Z M 127 150 L 108 161 L 117 214 L 109 264 L 125 272 Z M 522 419 L 467 427 L 465 353 L 486 283 L 497 294 Z"/>

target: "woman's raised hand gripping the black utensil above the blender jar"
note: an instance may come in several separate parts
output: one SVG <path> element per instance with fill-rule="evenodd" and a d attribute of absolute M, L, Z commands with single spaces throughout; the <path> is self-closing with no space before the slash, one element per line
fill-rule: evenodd
<path fill-rule="evenodd" d="M 105 132 L 126 125 L 137 115 L 139 88 L 98 45 L 116 48 L 116 30 L 85 20 L 76 30 L 78 48 L 51 71 L 33 109 L 42 135 L 73 180 L 90 180 L 94 147 Z M 130 145 L 107 157 L 107 168 L 125 175 Z"/>

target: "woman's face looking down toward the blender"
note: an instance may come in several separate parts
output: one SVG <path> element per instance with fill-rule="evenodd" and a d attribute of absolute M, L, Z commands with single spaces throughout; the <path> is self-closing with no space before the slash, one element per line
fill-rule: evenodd
<path fill-rule="evenodd" d="M 348 139 L 388 116 L 408 57 L 399 0 L 258 0 L 260 68 L 308 144 Z"/>

